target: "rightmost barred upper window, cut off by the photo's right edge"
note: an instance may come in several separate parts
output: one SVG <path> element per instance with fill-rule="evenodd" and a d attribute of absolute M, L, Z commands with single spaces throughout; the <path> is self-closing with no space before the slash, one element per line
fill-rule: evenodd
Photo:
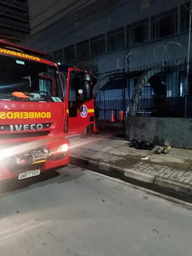
<path fill-rule="evenodd" d="M 180 32 L 189 30 L 189 10 L 190 2 L 180 7 Z"/>

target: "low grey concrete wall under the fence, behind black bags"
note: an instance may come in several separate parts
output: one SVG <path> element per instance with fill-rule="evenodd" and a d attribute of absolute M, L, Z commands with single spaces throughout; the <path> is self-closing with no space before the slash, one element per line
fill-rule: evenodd
<path fill-rule="evenodd" d="M 125 137 L 128 141 L 145 139 L 156 145 L 192 149 L 192 119 L 126 117 Z"/>

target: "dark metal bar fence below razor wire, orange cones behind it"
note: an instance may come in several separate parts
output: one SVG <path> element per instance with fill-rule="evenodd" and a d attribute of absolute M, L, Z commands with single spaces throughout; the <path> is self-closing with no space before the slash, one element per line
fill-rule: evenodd
<path fill-rule="evenodd" d="M 192 118 L 192 62 L 190 59 L 189 83 L 186 59 L 176 62 L 98 75 L 97 122 L 123 129 L 125 116 Z"/>

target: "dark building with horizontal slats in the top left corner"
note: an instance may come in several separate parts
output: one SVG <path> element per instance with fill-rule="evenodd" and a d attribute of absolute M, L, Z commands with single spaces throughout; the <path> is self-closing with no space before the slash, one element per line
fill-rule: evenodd
<path fill-rule="evenodd" d="M 0 0 L 0 38 L 19 42 L 29 32 L 27 0 Z"/>

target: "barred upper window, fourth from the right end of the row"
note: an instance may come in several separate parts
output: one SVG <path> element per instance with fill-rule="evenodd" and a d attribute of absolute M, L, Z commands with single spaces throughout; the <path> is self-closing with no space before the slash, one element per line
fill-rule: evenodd
<path fill-rule="evenodd" d="M 107 33 L 108 51 L 119 50 L 125 47 L 125 29 L 120 27 L 118 29 L 109 31 Z"/>

